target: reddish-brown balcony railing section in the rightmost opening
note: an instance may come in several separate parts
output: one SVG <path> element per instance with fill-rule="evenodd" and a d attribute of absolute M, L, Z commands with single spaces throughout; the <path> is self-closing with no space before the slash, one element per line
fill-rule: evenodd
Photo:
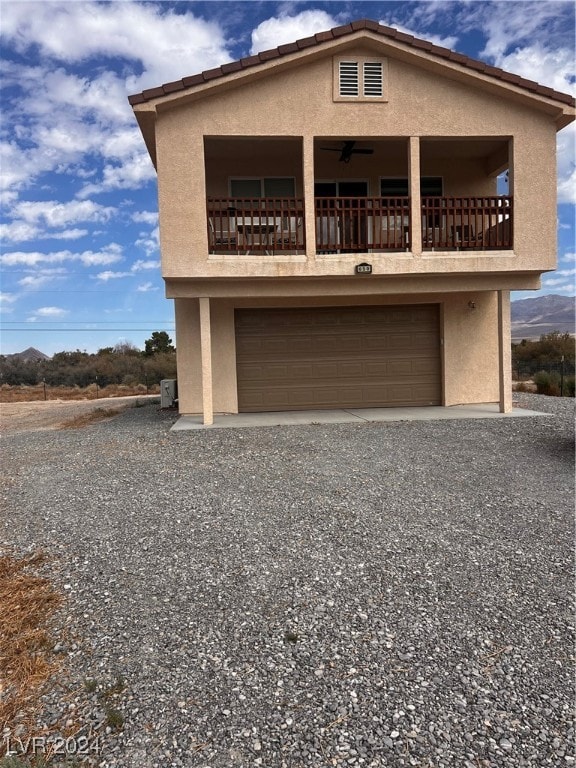
<path fill-rule="evenodd" d="M 424 250 L 513 247 L 512 197 L 423 197 Z"/>

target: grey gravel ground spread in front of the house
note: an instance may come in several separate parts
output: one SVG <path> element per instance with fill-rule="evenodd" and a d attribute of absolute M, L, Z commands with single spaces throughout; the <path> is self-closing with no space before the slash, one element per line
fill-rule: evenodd
<path fill-rule="evenodd" d="M 67 595 L 44 721 L 102 768 L 574 765 L 574 401 L 514 399 L 548 415 L 6 437 L 0 540 Z"/>

